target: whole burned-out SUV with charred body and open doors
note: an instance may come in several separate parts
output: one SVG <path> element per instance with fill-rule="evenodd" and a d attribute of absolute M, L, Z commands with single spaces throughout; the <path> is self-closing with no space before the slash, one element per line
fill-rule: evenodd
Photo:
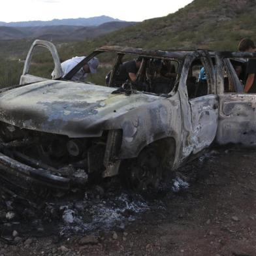
<path fill-rule="evenodd" d="M 52 79 L 29 74 L 38 46 L 52 54 Z M 72 81 L 95 56 L 102 85 L 95 74 Z M 138 56 L 136 82 L 118 81 L 121 63 Z M 71 189 L 123 172 L 146 189 L 213 142 L 255 146 L 256 95 L 242 93 L 236 72 L 248 57 L 256 56 L 106 46 L 63 77 L 55 46 L 36 40 L 20 84 L 0 91 L 0 176 L 26 189 Z"/>

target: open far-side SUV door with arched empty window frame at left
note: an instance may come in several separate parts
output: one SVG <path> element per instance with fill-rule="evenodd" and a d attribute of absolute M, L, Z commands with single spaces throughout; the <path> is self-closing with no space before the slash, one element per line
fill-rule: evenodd
<path fill-rule="evenodd" d="M 63 74 L 62 69 L 61 69 L 61 63 L 59 61 L 59 55 L 57 54 L 57 49 L 54 46 L 54 44 L 52 44 L 52 42 L 48 42 L 45 40 L 35 40 L 33 42 L 33 44 L 31 45 L 29 53 L 27 54 L 27 58 L 26 58 L 25 64 L 24 64 L 24 70 L 23 70 L 22 76 L 20 77 L 20 85 L 25 85 L 25 84 L 29 84 L 29 83 L 33 83 L 33 82 L 47 80 L 46 78 L 42 78 L 40 76 L 33 76 L 33 75 L 29 74 L 31 58 L 32 58 L 33 52 L 35 51 L 35 48 L 37 46 L 47 48 L 50 51 L 50 53 L 52 54 L 52 58 L 54 60 L 54 71 L 52 73 L 52 79 L 61 78 L 61 76 Z"/>

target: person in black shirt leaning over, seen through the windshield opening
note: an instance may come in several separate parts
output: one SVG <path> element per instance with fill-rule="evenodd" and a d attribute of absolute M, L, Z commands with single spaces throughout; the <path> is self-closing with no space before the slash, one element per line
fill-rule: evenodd
<path fill-rule="evenodd" d="M 126 61 L 121 64 L 116 71 L 116 80 L 125 82 L 126 80 L 130 80 L 131 82 L 136 81 L 136 73 L 140 69 L 140 65 L 142 63 L 142 57 L 138 57 L 132 61 Z"/>

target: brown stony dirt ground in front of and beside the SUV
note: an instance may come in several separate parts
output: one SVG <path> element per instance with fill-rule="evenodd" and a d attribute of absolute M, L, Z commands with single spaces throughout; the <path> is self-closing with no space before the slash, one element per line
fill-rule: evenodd
<path fill-rule="evenodd" d="M 116 215 L 121 220 L 110 221 L 108 225 L 105 225 L 106 218 L 103 222 L 95 216 L 89 221 L 83 219 L 95 224 L 90 229 L 88 225 L 83 226 L 87 227 L 83 231 L 78 226 L 84 222 L 76 221 L 74 225 L 73 208 L 66 209 L 59 222 L 50 220 L 52 224 L 48 225 L 56 229 L 47 231 L 46 226 L 38 225 L 37 231 L 26 231 L 26 225 L 37 223 L 37 219 L 12 219 L 16 208 L 8 212 L 8 198 L 2 193 L 0 255 L 254 256 L 255 159 L 256 152 L 252 150 L 214 150 L 179 170 L 177 176 L 186 180 L 189 187 L 178 193 L 167 188 L 163 193 L 141 197 L 120 189 L 104 193 L 98 187 L 99 195 L 84 204 L 87 211 L 99 206 L 97 210 L 106 213 L 101 206 L 107 203 L 108 210 L 114 211 L 114 208 L 121 209 L 120 202 L 127 208 Z M 123 193 L 131 198 L 121 200 Z M 108 201 L 107 194 L 119 201 Z M 116 212 L 111 213 L 107 218 L 113 219 Z M 63 229 L 65 221 L 74 229 Z M 10 227 L 9 238 L 3 226 Z"/>

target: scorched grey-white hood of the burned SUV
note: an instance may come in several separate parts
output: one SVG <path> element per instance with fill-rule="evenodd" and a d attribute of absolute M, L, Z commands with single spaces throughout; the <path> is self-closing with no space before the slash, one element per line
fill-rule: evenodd
<path fill-rule="evenodd" d="M 22 129 L 69 137 L 100 136 L 106 121 L 161 99 L 116 88 L 46 80 L 0 94 L 0 120 Z"/>

